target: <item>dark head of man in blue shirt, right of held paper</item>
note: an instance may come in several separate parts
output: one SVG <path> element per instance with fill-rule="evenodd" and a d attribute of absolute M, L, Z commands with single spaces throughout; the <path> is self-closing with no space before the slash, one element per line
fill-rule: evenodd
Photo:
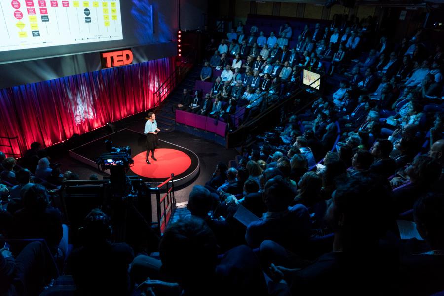
<path fill-rule="evenodd" d="M 265 183 L 263 202 L 266 204 L 268 212 L 285 211 L 293 198 L 293 191 L 282 176 L 275 176 Z"/>

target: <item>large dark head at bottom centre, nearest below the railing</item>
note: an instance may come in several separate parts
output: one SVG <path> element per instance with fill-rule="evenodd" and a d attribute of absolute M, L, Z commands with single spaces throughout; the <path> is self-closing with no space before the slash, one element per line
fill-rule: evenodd
<path fill-rule="evenodd" d="M 177 246 L 181 246 L 181 252 L 177 252 Z M 213 283 L 217 252 L 213 231 L 203 219 L 194 216 L 171 224 L 159 244 L 162 268 L 187 295 L 203 295 L 202 289 Z"/>

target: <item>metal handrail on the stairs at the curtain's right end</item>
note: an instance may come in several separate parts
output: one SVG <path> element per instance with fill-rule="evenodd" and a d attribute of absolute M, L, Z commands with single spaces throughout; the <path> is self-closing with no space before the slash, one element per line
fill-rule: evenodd
<path fill-rule="evenodd" d="M 174 71 L 167 77 L 167 79 L 159 86 L 159 88 L 154 92 L 155 106 L 160 106 L 160 103 L 169 94 L 172 93 L 174 88 L 179 85 L 179 83 L 185 78 L 186 74 L 191 70 L 195 52 L 188 54 L 179 65 L 175 65 Z"/>

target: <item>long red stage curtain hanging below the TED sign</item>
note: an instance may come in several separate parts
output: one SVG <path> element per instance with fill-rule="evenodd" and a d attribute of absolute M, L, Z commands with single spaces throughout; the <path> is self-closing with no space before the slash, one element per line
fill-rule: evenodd
<path fill-rule="evenodd" d="M 12 151 L 18 154 L 34 141 L 47 147 L 151 109 L 173 70 L 169 57 L 1 89 L 0 136 L 18 136 Z"/>

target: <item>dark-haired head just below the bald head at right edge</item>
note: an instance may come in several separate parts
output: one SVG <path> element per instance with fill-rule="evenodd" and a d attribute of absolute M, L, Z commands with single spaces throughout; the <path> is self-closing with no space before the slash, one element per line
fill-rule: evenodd
<path fill-rule="evenodd" d="M 406 174 L 411 183 L 428 188 L 436 184 L 441 171 L 441 165 L 434 158 L 421 155 L 416 157 L 411 165 L 407 166 Z"/>

